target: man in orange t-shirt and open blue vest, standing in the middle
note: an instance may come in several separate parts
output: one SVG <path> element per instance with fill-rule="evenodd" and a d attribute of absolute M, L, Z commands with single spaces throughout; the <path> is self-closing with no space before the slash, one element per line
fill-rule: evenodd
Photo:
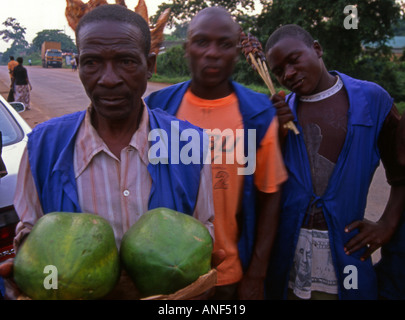
<path fill-rule="evenodd" d="M 239 57 L 239 30 L 225 9 L 202 10 L 188 30 L 192 80 L 146 99 L 151 109 L 162 108 L 204 128 L 212 139 L 214 248 L 226 252 L 213 299 L 264 297 L 279 187 L 287 177 L 270 100 L 230 80 Z"/>

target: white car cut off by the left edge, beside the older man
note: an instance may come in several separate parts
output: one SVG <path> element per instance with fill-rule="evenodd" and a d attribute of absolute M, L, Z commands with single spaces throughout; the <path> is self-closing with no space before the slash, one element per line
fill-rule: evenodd
<path fill-rule="evenodd" d="M 19 112 L 25 110 L 25 106 L 21 102 L 11 104 L 0 95 L 0 131 L 3 146 L 1 158 L 7 170 L 7 175 L 0 178 L 0 263 L 14 257 L 13 240 L 19 218 L 13 200 L 17 173 L 28 140 L 27 134 L 31 132 L 29 125 L 19 115 Z M 4 292 L 2 280 L 0 278 L 0 299 Z"/>

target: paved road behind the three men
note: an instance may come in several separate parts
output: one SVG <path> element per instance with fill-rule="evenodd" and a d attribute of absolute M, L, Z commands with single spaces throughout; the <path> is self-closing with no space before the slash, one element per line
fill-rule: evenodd
<path fill-rule="evenodd" d="M 85 109 L 89 99 L 81 85 L 77 72 L 70 69 L 44 69 L 41 67 L 27 67 L 28 75 L 33 86 L 31 92 L 32 110 L 22 114 L 31 127 L 52 117 L 61 116 Z M 9 83 L 6 66 L 0 66 L 0 94 L 7 95 Z M 145 95 L 156 91 L 165 84 L 148 83 Z M 375 177 L 370 187 L 366 217 L 372 221 L 381 216 L 389 196 L 388 184 L 384 171 L 377 168 Z M 374 255 L 374 260 L 379 259 L 379 252 Z"/>

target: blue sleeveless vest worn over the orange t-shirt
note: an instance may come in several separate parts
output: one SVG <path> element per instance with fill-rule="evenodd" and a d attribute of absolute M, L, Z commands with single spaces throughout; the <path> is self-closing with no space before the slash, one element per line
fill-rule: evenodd
<path fill-rule="evenodd" d="M 191 81 L 182 82 L 162 90 L 151 93 L 145 102 L 151 109 L 160 108 L 176 115 L 183 96 Z M 272 119 L 275 109 L 265 94 L 249 90 L 237 82 L 231 82 L 239 102 L 244 125 L 245 156 L 248 152 L 248 129 L 256 130 L 256 146 L 260 145 Z M 256 188 L 253 175 L 244 176 L 243 202 L 242 202 L 242 228 L 238 243 L 239 256 L 242 267 L 246 269 L 250 263 L 255 241 L 256 229 Z"/>

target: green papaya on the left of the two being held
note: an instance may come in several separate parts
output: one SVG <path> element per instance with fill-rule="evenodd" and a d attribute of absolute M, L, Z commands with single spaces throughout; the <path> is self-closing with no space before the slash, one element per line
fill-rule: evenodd
<path fill-rule="evenodd" d="M 120 276 L 110 224 L 94 214 L 41 217 L 14 260 L 14 280 L 34 300 L 88 300 L 108 294 Z"/>

